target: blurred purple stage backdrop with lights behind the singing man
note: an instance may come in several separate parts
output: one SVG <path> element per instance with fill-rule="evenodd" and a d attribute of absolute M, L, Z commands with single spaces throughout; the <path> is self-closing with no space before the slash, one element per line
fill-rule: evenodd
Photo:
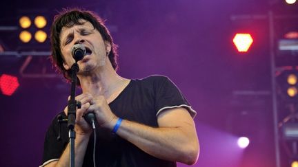
<path fill-rule="evenodd" d="M 295 0 L 0 4 L 0 166 L 41 165 L 46 129 L 70 94 L 50 63 L 48 32 L 72 7 L 106 19 L 121 76 L 166 75 L 181 89 L 197 111 L 193 166 L 298 166 Z"/>

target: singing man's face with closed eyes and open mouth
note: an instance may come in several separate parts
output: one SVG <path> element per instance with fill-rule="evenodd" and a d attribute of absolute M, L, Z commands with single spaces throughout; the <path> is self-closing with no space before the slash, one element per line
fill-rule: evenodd
<path fill-rule="evenodd" d="M 106 65 L 106 53 L 110 52 L 110 43 L 103 41 L 101 34 L 89 21 L 80 20 L 82 25 L 63 27 L 60 34 L 60 47 L 63 55 L 64 67 L 70 69 L 75 63 L 72 58 L 72 46 L 81 43 L 86 47 L 86 56 L 79 60 L 79 73 L 90 72 Z"/>

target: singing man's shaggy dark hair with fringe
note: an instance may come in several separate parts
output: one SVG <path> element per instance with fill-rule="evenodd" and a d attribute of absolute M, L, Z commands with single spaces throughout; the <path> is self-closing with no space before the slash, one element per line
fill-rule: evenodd
<path fill-rule="evenodd" d="M 77 8 L 63 9 L 62 12 L 59 12 L 59 14 L 54 16 L 54 22 L 52 23 L 52 27 L 50 29 L 52 64 L 63 74 L 66 79 L 70 80 L 70 70 L 66 70 L 63 67 L 63 58 L 60 47 L 60 33 L 63 27 L 72 27 L 73 25 L 83 24 L 81 21 L 79 21 L 80 19 L 89 21 L 93 25 L 93 27 L 95 27 L 95 29 L 99 31 L 103 38 L 103 41 L 110 42 L 111 51 L 108 57 L 110 62 L 112 63 L 112 67 L 115 69 L 115 71 L 117 71 L 117 45 L 113 43 L 112 36 L 110 35 L 108 28 L 104 25 L 104 21 L 94 12 L 88 10 L 80 10 Z M 80 85 L 79 80 L 78 85 Z"/>

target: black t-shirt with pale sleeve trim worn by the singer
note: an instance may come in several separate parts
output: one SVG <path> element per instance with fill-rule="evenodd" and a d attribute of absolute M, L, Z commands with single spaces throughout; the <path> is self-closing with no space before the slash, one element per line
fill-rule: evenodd
<path fill-rule="evenodd" d="M 149 76 L 141 80 L 131 80 L 119 96 L 109 104 L 119 118 L 158 127 L 157 115 L 164 109 L 185 107 L 192 117 L 191 109 L 181 91 L 165 76 Z M 66 115 L 61 112 L 63 118 Z M 67 124 L 61 124 L 61 140 L 57 117 L 50 125 L 44 143 L 43 165 L 59 159 L 68 144 Z M 90 136 L 83 166 L 93 166 L 94 134 Z M 158 159 L 141 151 L 134 144 L 123 140 L 108 129 L 97 129 L 96 162 L 98 167 L 172 167 L 176 162 Z"/>

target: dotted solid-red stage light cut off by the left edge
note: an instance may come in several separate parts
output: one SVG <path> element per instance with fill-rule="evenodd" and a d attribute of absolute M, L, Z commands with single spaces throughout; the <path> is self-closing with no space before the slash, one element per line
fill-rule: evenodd
<path fill-rule="evenodd" d="M 18 78 L 3 74 L 0 78 L 0 88 L 4 95 L 11 96 L 19 87 Z"/>

